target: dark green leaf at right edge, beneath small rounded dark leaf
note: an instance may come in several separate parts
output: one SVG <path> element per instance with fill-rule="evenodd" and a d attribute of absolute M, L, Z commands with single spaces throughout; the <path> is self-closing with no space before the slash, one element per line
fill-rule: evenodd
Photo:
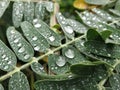
<path fill-rule="evenodd" d="M 120 58 L 119 45 L 105 44 L 99 41 L 87 41 L 84 45 L 88 52 L 94 53 L 96 55 L 110 58 Z"/>

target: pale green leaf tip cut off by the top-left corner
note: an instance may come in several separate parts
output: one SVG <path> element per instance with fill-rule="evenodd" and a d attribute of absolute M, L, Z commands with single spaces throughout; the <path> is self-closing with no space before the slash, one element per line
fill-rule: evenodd
<path fill-rule="evenodd" d="M 3 16 L 5 10 L 9 6 L 10 1 L 9 0 L 1 0 L 0 1 L 0 18 Z"/>

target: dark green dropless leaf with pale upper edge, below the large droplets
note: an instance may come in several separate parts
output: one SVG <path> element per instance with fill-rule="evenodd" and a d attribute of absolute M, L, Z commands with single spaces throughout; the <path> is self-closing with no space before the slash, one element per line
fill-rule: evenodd
<path fill-rule="evenodd" d="M 74 64 L 70 67 L 70 71 L 74 74 L 78 74 L 80 76 L 87 76 L 93 74 L 95 68 L 99 65 L 103 65 L 102 62 L 82 62 L 78 64 Z"/>

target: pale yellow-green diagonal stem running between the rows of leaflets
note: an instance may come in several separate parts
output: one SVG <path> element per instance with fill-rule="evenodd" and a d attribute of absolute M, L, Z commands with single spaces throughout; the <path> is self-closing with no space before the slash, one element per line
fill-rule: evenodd
<path fill-rule="evenodd" d="M 44 57 L 46 57 L 46 56 L 48 56 L 48 55 L 50 55 L 50 54 L 53 54 L 54 52 L 56 52 L 56 51 L 58 51 L 58 50 L 60 50 L 60 49 L 62 49 L 62 48 L 64 48 L 64 47 L 66 47 L 66 46 L 68 46 L 68 45 L 74 43 L 75 41 L 78 41 L 79 39 L 84 38 L 84 37 L 85 37 L 85 35 L 82 35 L 82 36 L 80 36 L 80 37 L 77 37 L 77 38 L 75 38 L 75 39 L 73 39 L 73 40 L 71 40 L 71 41 L 69 41 L 69 42 L 67 42 L 67 43 L 65 43 L 65 44 L 63 44 L 63 45 L 61 45 L 61 46 L 53 49 L 53 50 L 48 51 L 47 53 L 45 53 L 45 54 L 42 55 L 42 56 L 39 56 L 39 57 L 37 57 L 37 58 L 33 57 L 30 62 L 28 62 L 28 63 L 26 63 L 26 64 L 24 64 L 24 65 L 22 65 L 22 66 L 20 66 L 20 67 L 16 67 L 13 71 L 10 71 L 10 72 L 8 72 L 7 74 L 1 76 L 1 77 L 0 77 L 0 82 L 6 80 L 6 79 L 9 78 L 10 76 L 12 76 L 14 73 L 19 72 L 20 70 L 23 70 L 23 69 L 29 67 L 32 63 L 34 63 L 34 62 L 36 62 L 36 61 L 39 61 L 39 60 L 41 60 L 42 58 L 44 58 Z M 47 76 L 45 76 L 45 77 L 47 77 Z"/>

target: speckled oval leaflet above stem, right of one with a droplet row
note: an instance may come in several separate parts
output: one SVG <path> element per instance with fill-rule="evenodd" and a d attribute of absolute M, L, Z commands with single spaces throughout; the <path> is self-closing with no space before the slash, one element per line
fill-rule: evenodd
<path fill-rule="evenodd" d="M 21 24 L 22 31 L 31 43 L 35 51 L 47 52 L 49 49 L 49 44 L 47 40 L 27 21 Z"/>

